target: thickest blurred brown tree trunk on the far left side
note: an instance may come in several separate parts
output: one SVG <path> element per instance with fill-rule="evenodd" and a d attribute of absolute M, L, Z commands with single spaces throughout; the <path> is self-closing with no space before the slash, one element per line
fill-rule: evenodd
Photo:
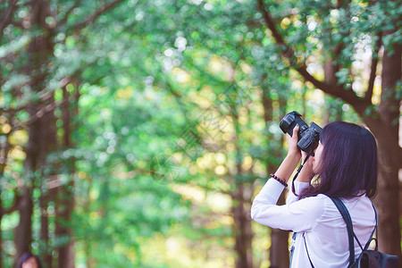
<path fill-rule="evenodd" d="M 50 9 L 46 0 L 32 1 L 30 5 L 30 25 L 37 27 L 42 32 L 32 38 L 29 43 L 29 67 L 25 70 L 30 77 L 29 87 L 32 92 L 38 94 L 45 88 L 47 59 L 53 51 L 54 43 L 52 42 L 52 30 L 49 29 L 46 19 L 50 15 Z M 29 142 L 27 145 L 25 160 L 25 184 L 22 188 L 22 197 L 19 205 L 20 224 L 16 228 L 15 244 L 17 248 L 16 258 L 18 259 L 25 251 L 30 249 L 32 241 L 32 212 L 33 200 L 32 189 L 34 188 L 35 172 L 42 171 L 46 163 L 46 155 L 56 147 L 55 136 L 55 119 L 53 110 L 49 113 L 46 111 L 46 105 L 54 103 L 53 95 L 46 101 L 32 100 L 28 107 L 29 112 Z M 41 184 L 43 183 L 42 178 Z M 44 209 L 46 204 L 40 201 Z M 46 212 L 45 212 L 46 214 Z M 46 218 L 42 215 L 41 222 L 47 224 Z M 47 227 L 41 231 L 41 237 L 46 239 L 48 236 L 44 234 Z M 47 249 L 47 248 L 46 248 Z M 48 259 L 49 253 L 44 253 L 45 261 Z M 46 263 L 46 266 L 48 264 Z M 50 266 L 49 266 L 50 267 Z"/>

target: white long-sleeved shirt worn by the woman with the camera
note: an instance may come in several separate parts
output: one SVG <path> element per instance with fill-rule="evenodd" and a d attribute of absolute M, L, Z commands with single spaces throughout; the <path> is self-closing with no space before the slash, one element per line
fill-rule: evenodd
<path fill-rule="evenodd" d="M 308 186 L 308 182 L 295 181 L 297 194 Z M 283 188 L 279 181 L 268 180 L 254 199 L 251 218 L 272 228 L 297 232 L 291 267 L 311 267 L 306 246 L 314 267 L 348 267 L 348 230 L 331 198 L 320 194 L 297 200 L 289 191 L 287 204 L 276 205 Z M 348 208 L 353 230 L 364 247 L 375 226 L 372 202 L 365 195 L 341 200 Z M 355 239 L 355 257 L 361 252 Z"/>

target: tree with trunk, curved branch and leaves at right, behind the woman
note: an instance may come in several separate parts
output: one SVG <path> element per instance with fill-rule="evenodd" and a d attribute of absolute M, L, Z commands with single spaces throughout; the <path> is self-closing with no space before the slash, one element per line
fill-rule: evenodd
<path fill-rule="evenodd" d="M 375 203 L 380 214 L 379 245 L 381 250 L 400 258 L 395 214 L 400 205 L 398 170 L 402 164 L 398 160 L 402 157 L 398 145 L 400 5 L 397 1 L 274 4 L 263 0 L 257 4 L 272 38 L 281 47 L 283 61 L 315 88 L 352 105 L 377 138 L 380 174 Z M 364 50 L 372 55 L 370 70 L 356 70 L 359 54 Z M 314 69 L 309 70 L 310 64 L 320 59 L 322 64 L 331 66 L 331 80 L 320 80 Z M 374 90 L 379 88 L 375 86 L 376 79 L 381 79 L 381 96 Z"/>

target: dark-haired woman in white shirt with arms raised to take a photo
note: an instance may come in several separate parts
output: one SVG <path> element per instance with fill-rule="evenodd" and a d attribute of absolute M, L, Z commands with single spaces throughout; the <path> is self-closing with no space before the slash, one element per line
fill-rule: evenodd
<path fill-rule="evenodd" d="M 348 230 L 330 197 L 340 197 L 351 215 L 357 238 L 365 244 L 375 226 L 370 197 L 377 185 L 377 145 L 373 134 L 353 123 L 325 126 L 314 156 L 310 156 L 289 191 L 286 205 L 276 205 L 302 154 L 297 130 L 289 152 L 255 197 L 251 217 L 261 224 L 297 232 L 292 241 L 291 267 L 348 267 Z M 306 154 L 303 152 L 303 158 Z M 311 184 L 314 175 L 315 183 Z M 295 238 L 296 237 L 296 238 Z M 355 256 L 361 253 L 355 240 Z M 311 261 L 311 263 L 310 263 Z"/>

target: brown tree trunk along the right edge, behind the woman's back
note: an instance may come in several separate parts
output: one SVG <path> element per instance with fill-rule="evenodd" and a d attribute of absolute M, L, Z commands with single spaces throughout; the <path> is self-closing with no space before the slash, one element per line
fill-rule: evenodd
<path fill-rule="evenodd" d="M 373 130 L 379 144 L 379 184 L 375 204 L 379 210 L 379 248 L 402 259 L 399 228 L 399 180 L 402 168 L 400 158 L 389 147 L 398 145 L 400 97 L 396 97 L 395 87 L 401 80 L 401 50 L 395 46 L 392 54 L 385 50 L 382 60 L 381 104 L 379 117 L 365 118 Z"/>

